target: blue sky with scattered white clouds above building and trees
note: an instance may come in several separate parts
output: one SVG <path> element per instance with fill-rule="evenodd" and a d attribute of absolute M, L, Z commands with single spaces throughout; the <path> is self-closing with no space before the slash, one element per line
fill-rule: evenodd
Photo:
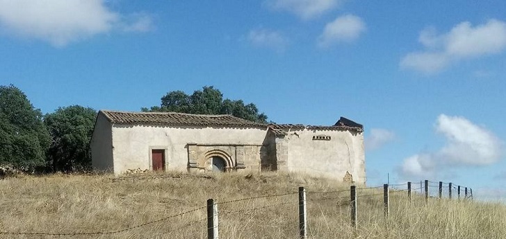
<path fill-rule="evenodd" d="M 505 1 L 0 0 L 0 85 L 44 113 L 213 85 L 277 123 L 364 124 L 368 184 L 506 197 Z"/>

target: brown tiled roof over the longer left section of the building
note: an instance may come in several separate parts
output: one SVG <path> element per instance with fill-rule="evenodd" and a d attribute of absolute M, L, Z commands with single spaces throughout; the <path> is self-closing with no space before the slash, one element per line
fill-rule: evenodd
<path fill-rule="evenodd" d="M 168 126 L 215 126 L 215 127 L 263 127 L 268 125 L 246 121 L 229 114 L 184 114 L 175 112 L 118 112 L 101 110 L 108 121 L 118 124 L 168 125 Z"/>

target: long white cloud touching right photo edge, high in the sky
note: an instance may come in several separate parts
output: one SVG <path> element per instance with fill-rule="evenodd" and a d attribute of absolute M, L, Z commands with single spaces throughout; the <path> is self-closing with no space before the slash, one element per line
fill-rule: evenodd
<path fill-rule="evenodd" d="M 464 21 L 440 35 L 434 28 L 427 28 L 421 31 L 418 42 L 425 46 L 425 51 L 407 54 L 400 67 L 437 73 L 460 60 L 502 52 L 506 48 L 506 23 L 490 19 L 473 27 Z"/>

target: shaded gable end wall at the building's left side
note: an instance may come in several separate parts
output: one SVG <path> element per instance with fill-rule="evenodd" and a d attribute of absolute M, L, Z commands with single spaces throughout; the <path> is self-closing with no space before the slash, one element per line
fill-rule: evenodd
<path fill-rule="evenodd" d="M 111 123 L 98 114 L 90 142 L 92 167 L 99 171 L 113 171 L 113 133 Z"/>

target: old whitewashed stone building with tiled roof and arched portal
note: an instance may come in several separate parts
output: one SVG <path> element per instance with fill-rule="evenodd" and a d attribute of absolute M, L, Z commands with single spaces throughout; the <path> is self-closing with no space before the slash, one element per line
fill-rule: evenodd
<path fill-rule="evenodd" d="M 365 183 L 363 131 L 343 117 L 332 126 L 268 125 L 231 115 L 101 110 L 92 166 L 115 174 L 278 170 Z"/>

